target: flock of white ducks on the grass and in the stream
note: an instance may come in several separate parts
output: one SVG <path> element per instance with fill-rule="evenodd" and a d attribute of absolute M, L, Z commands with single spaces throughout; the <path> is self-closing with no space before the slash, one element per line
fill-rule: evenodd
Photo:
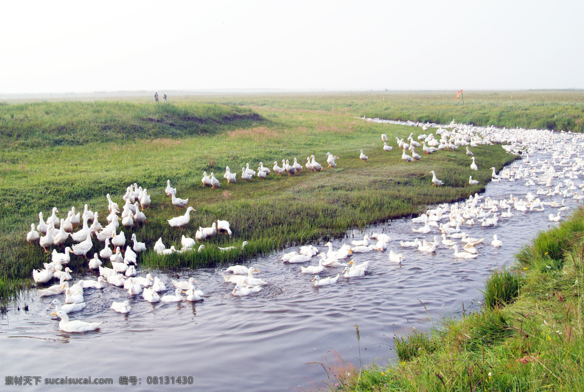
<path fill-rule="evenodd" d="M 377 119 L 366 119 L 376 121 Z M 387 122 L 386 120 L 377 120 Z M 333 249 L 331 242 L 325 244 L 326 249 L 319 249 L 318 244 L 305 245 L 297 251 L 289 252 L 282 257 L 282 261 L 290 264 L 302 264 L 298 273 L 306 274 L 312 277 L 311 282 L 314 286 L 334 285 L 340 275 L 345 279 L 352 279 L 363 276 L 369 268 L 367 254 L 369 252 L 388 251 L 388 262 L 401 264 L 405 261 L 404 256 L 399 249 L 402 247 L 417 248 L 420 252 L 436 253 L 450 252 L 456 260 L 474 259 L 485 246 L 500 247 L 502 242 L 495 235 L 492 238 L 471 238 L 465 233 L 465 227 L 481 226 L 484 228 L 496 227 L 504 224 L 505 221 L 515 214 L 529 214 L 531 211 L 549 210 L 549 220 L 559 221 L 562 211 L 568 209 L 565 200 L 571 198 L 582 200 L 584 198 L 584 183 L 579 180 L 579 176 L 584 168 L 584 159 L 580 152 L 584 147 L 584 138 L 580 134 L 552 132 L 542 130 L 524 130 L 524 129 L 496 129 L 495 127 L 474 127 L 464 124 L 449 124 L 446 127 L 439 127 L 436 131 L 436 137 L 433 133 L 426 134 L 428 130 L 435 127 L 434 124 L 405 123 L 410 126 L 421 127 L 423 134 L 420 134 L 414 140 L 413 134 L 406 141 L 396 138 L 398 147 L 402 150 L 402 158 L 406 162 L 421 159 L 416 154 L 415 148 L 420 146 L 420 142 L 425 154 L 433 154 L 440 150 L 453 150 L 459 147 L 465 147 L 467 155 L 472 161 L 471 169 L 478 170 L 475 157 L 470 151 L 469 146 L 476 147 L 482 144 L 503 144 L 507 152 L 521 154 L 522 161 L 503 169 L 496 174 L 495 168 L 488 168 L 492 171 L 493 182 L 500 181 L 522 181 L 526 186 L 525 195 L 509 196 L 502 199 L 493 199 L 491 197 L 482 197 L 480 195 L 471 195 L 465 202 L 453 204 L 440 204 L 434 209 L 429 209 L 425 214 L 413 218 L 412 223 L 419 225 L 412 229 L 412 237 L 409 241 L 399 241 L 399 245 L 391 242 L 390 234 L 373 233 L 364 235 L 362 240 L 354 240 L 351 244 L 344 244 L 339 249 Z M 392 147 L 387 145 L 388 137 L 383 134 L 383 149 L 390 152 Z M 410 151 L 411 155 L 406 154 Z M 549 152 L 552 159 L 534 161 L 530 155 L 535 152 Z M 329 167 L 336 166 L 336 155 L 328 152 L 327 162 Z M 368 157 L 363 150 L 360 151 L 360 159 L 367 161 Z M 480 162 L 479 162 L 480 163 Z M 314 155 L 307 158 L 305 168 L 310 171 L 321 171 L 322 165 L 315 161 Z M 288 174 L 296 175 L 303 170 L 303 166 L 298 164 L 294 158 L 293 164 L 290 165 L 287 159 L 282 160 L 282 166 L 274 162 L 273 173 L 277 175 Z M 486 168 L 484 169 L 486 170 Z M 249 164 L 242 168 L 241 178 L 244 181 L 250 181 L 252 176 L 265 178 L 272 171 L 263 166 L 260 162 L 258 171 L 249 169 Z M 432 174 L 432 185 L 443 186 L 444 182 L 440 181 L 434 171 Z M 232 174 L 230 168 L 226 168 L 224 179 L 227 183 L 237 181 L 235 174 Z M 210 185 L 212 188 L 219 188 L 220 182 L 214 174 L 207 176 L 203 173 L 201 179 L 203 186 Z M 477 183 L 470 176 L 471 184 Z M 177 209 L 186 208 L 185 214 L 168 220 L 171 227 L 184 227 L 189 223 L 190 212 L 193 207 L 188 206 L 188 199 L 179 199 L 176 197 L 176 189 L 171 187 L 170 181 L 167 181 L 165 193 L 171 197 L 171 203 Z M 537 190 L 534 189 L 537 187 Z M 532 192 L 533 190 L 533 192 Z M 564 198 L 561 203 L 547 200 L 551 196 L 561 196 Z M 151 273 L 145 273 L 144 276 L 138 276 L 140 268 L 137 265 L 137 254 L 146 251 L 144 242 L 139 242 L 135 234 L 131 235 L 130 241 L 126 241 L 124 231 L 117 230 L 121 225 L 125 228 L 140 226 L 145 224 L 146 217 L 144 210 L 150 206 L 150 195 L 146 189 L 142 189 L 136 183 L 126 189 L 126 195 L 123 196 L 125 204 L 120 211 L 119 205 L 112 201 L 111 197 L 106 195 L 109 215 L 107 216 L 107 225 L 102 226 L 99 223 L 98 213 L 89 210 L 85 204 L 82 214 L 76 212 L 72 207 L 67 213 L 66 218 L 58 218 L 59 213 L 56 207 L 53 208 L 51 216 L 47 220 L 43 219 L 43 213 L 39 213 L 39 224 L 35 227 L 31 224 L 31 231 L 27 233 L 27 241 L 38 243 L 48 252 L 50 247 L 64 247 L 65 241 L 71 237 L 75 244 L 71 247 L 65 247 L 64 252 L 60 253 L 53 249 L 51 262 L 44 263 L 44 269 L 33 270 L 33 278 L 40 286 L 51 280 L 58 280 L 59 283 L 39 289 L 40 296 L 61 296 L 61 299 L 55 299 L 51 306 L 55 306 L 53 315 L 61 318 L 59 327 L 66 332 L 85 332 L 92 331 L 100 327 L 101 322 L 84 322 L 79 320 L 69 320 L 68 314 L 79 311 L 85 307 L 84 291 L 103 289 L 106 285 L 120 287 L 120 290 L 127 292 L 128 299 L 135 296 L 142 296 L 145 301 L 150 303 L 176 303 L 184 300 L 199 301 L 204 298 L 204 293 L 197 290 L 197 281 L 190 277 L 189 280 L 171 280 L 163 282 L 158 276 L 152 276 Z M 121 216 L 119 217 L 118 214 Z M 91 221 L 91 225 L 89 225 Z M 74 227 L 81 224 L 82 228 L 74 231 Z M 423 226 L 422 226 L 423 225 Z M 57 229 L 57 227 L 59 227 Z M 181 249 L 175 246 L 166 248 L 162 238 L 154 245 L 154 251 L 158 254 L 172 254 L 174 252 L 201 251 L 204 245 L 196 249 L 197 241 L 204 241 L 206 238 L 220 233 L 225 233 L 231 237 L 231 227 L 227 221 L 218 220 L 211 227 L 199 227 L 196 231 L 195 238 L 182 236 Z M 42 235 L 41 235 L 42 234 Z M 92 237 L 103 241 L 104 246 L 98 249 L 99 252 L 93 254 L 92 259 L 88 259 L 88 253 L 93 247 Z M 130 245 L 130 242 L 133 242 Z M 110 243 L 113 249 L 110 248 Z M 241 245 L 245 247 L 246 241 Z M 220 248 L 221 251 L 230 251 L 239 247 Z M 392 249 L 391 249 L 392 248 Z M 88 259 L 90 269 L 99 270 L 99 276 L 96 280 L 81 279 L 74 284 L 69 284 L 72 280 L 72 270 L 67 267 L 71 259 L 71 253 L 77 256 L 83 256 Z M 315 258 L 317 256 L 317 258 Z M 361 262 L 359 258 L 363 258 Z M 313 262 L 318 259 L 318 264 Z M 104 265 L 109 262 L 110 267 Z M 310 263 L 310 264 L 309 264 Z M 331 273 L 342 268 L 342 272 Z M 258 270 L 252 266 L 235 265 L 230 266 L 224 271 L 225 282 L 235 285 L 231 291 L 234 296 L 247 296 L 258 293 L 262 287 L 269 282 L 254 276 Z M 325 277 L 326 276 L 326 277 Z M 308 281 L 308 279 L 307 279 Z M 171 288 L 172 284 L 172 288 Z M 168 286 L 168 288 L 167 288 Z M 165 294 L 167 290 L 172 293 Z M 64 294 L 64 297 L 62 295 Z M 183 297 L 182 294 L 186 294 Z M 113 301 L 110 308 L 112 311 L 127 314 L 131 311 L 130 301 Z"/>

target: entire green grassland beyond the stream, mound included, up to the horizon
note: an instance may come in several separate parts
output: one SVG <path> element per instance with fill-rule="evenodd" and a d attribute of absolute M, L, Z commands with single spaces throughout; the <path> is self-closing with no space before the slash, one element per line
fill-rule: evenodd
<path fill-rule="evenodd" d="M 311 93 L 231 95 L 150 99 L 0 103 L 0 296 L 3 302 L 31 283 L 33 268 L 49 255 L 27 246 L 26 232 L 38 214 L 52 207 L 66 211 L 84 204 L 107 215 L 106 193 L 123 203 L 126 187 L 137 183 L 152 195 L 147 223 L 135 228 L 149 249 L 159 237 L 169 247 L 199 226 L 228 220 L 231 238 L 207 245 L 227 247 L 248 241 L 244 251 L 220 253 L 207 246 L 200 254 L 140 255 L 144 268 L 197 268 L 239 262 L 285 246 L 342 237 L 390 218 L 408 216 L 437 202 L 451 202 L 484 189 L 468 185 L 464 151 L 433 154 L 419 162 L 402 161 L 399 149 L 384 151 L 381 134 L 406 138 L 412 129 L 363 122 L 381 117 L 420 122 L 475 123 L 582 131 L 584 93 L 467 92 L 465 103 L 451 93 Z M 363 149 L 369 160 L 362 162 Z M 326 168 L 326 152 L 340 158 Z M 314 154 L 322 172 L 270 175 L 220 189 L 201 187 L 203 171 L 222 178 L 225 166 L 239 174 L 247 162 L 271 168 L 281 159 L 304 165 Z M 479 146 L 482 167 L 501 168 L 514 159 L 502 149 Z M 430 186 L 435 169 L 447 186 Z M 490 172 L 475 175 L 484 184 Z M 197 211 L 186 230 L 171 230 L 178 216 L 163 192 L 169 179 L 178 197 Z M 121 205 L 121 204 L 120 204 Z M 68 241 L 71 241 L 69 238 Z M 67 245 L 66 243 L 65 245 Z M 92 250 L 93 252 L 93 250 Z M 84 270 L 82 258 L 72 268 Z"/>

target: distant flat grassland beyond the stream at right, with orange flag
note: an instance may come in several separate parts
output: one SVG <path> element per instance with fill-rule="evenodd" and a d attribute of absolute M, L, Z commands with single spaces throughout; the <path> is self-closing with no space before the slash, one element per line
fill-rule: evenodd
<path fill-rule="evenodd" d="M 350 116 L 526 129 L 584 131 L 584 91 L 371 92 L 228 96 L 219 102 L 344 112 Z"/>

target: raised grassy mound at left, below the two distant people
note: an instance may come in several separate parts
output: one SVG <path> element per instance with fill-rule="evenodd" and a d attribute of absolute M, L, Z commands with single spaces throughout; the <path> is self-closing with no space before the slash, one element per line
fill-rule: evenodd
<path fill-rule="evenodd" d="M 181 138 L 258 120 L 257 113 L 247 108 L 197 102 L 0 102 L 0 148 Z"/>

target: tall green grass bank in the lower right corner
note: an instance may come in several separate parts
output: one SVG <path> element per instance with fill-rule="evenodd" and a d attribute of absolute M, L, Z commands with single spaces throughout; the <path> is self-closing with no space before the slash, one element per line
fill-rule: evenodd
<path fill-rule="evenodd" d="M 584 209 L 494 272 L 481 311 L 395 339 L 399 363 L 338 372 L 332 390 L 584 390 Z"/>

